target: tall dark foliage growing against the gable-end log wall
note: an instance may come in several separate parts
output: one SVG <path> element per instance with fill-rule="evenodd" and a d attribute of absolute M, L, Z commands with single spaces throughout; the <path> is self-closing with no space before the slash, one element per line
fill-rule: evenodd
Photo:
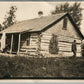
<path fill-rule="evenodd" d="M 52 35 L 52 38 L 50 40 L 49 44 L 49 52 L 51 54 L 57 54 L 58 53 L 58 39 L 56 35 Z"/>

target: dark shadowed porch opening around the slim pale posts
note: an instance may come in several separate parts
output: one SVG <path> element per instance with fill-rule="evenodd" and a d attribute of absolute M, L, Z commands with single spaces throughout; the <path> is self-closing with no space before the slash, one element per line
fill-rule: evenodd
<path fill-rule="evenodd" d="M 3 53 L 18 54 L 20 48 L 20 33 L 6 34 Z"/>

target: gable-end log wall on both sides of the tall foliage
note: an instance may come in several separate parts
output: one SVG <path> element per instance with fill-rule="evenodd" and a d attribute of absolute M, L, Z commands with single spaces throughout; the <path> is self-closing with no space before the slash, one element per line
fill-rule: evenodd
<path fill-rule="evenodd" d="M 41 37 L 41 53 L 49 53 L 49 44 L 50 40 L 52 38 L 51 34 L 42 33 Z M 67 37 L 63 35 L 58 35 L 58 48 L 59 48 L 59 54 L 62 54 L 63 56 L 73 56 L 71 46 L 72 42 L 76 40 L 77 45 L 77 56 L 81 56 L 81 40 L 78 38 L 73 37 Z"/>

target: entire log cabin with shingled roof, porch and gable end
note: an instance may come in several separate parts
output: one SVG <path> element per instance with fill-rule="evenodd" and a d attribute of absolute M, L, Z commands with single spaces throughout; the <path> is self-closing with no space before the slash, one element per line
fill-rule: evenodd
<path fill-rule="evenodd" d="M 53 35 L 57 39 L 57 54 L 73 56 L 71 45 L 76 40 L 77 56 L 81 56 L 83 35 L 68 13 L 18 22 L 0 32 L 0 45 L 1 49 L 8 45 L 6 52 L 10 54 L 37 56 L 47 53 L 52 56 L 50 41 Z"/>

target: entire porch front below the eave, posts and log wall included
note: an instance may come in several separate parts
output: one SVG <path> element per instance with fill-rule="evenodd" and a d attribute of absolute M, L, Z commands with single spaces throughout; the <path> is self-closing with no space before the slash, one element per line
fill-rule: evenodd
<path fill-rule="evenodd" d="M 2 35 L 3 37 L 3 35 Z M 5 40 L 1 42 L 1 46 L 5 43 L 2 55 L 38 55 L 38 36 L 30 33 L 8 33 L 5 34 Z"/>

